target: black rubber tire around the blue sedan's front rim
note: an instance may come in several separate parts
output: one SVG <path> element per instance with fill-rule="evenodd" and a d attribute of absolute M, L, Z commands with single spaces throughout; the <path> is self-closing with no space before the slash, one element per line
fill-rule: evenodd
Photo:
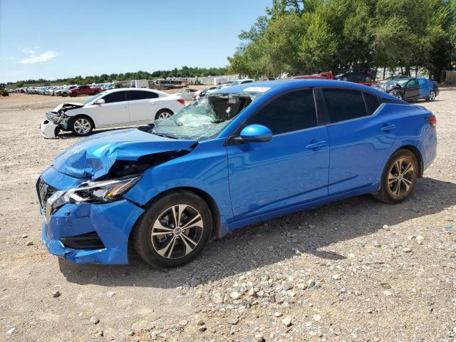
<path fill-rule="evenodd" d="M 197 209 L 202 216 L 204 229 L 197 247 L 195 247 L 192 252 L 179 259 L 167 259 L 155 252 L 150 236 L 152 233 L 152 225 L 158 215 L 162 214 L 165 209 L 177 204 L 187 204 L 195 207 L 195 209 Z M 204 246 L 207 244 L 211 234 L 212 213 L 207 203 L 204 202 L 204 199 L 193 192 L 177 190 L 176 192 L 170 192 L 160 199 L 157 199 L 152 202 L 149 207 L 147 207 L 144 216 L 138 224 L 138 227 L 135 227 L 135 249 L 138 254 L 140 254 L 140 257 L 147 262 L 147 264 L 165 267 L 181 266 L 192 261 L 192 259 L 195 259 L 195 257 L 202 252 L 202 249 L 204 249 Z"/>

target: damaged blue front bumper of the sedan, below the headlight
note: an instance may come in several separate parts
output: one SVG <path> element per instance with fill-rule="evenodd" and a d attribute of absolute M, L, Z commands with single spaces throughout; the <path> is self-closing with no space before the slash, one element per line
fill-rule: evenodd
<path fill-rule="evenodd" d="M 68 190 L 81 181 L 53 168 L 43 172 L 41 179 L 58 190 Z M 38 198 L 41 202 L 43 193 Z M 40 212 L 44 217 L 42 204 Z M 77 264 L 128 264 L 130 232 L 143 212 L 127 199 L 105 204 L 63 204 L 43 221 L 41 239 L 51 254 Z M 93 244 L 93 239 L 81 239 L 88 235 L 99 239 L 98 244 Z M 71 248 L 75 245 L 78 248 Z"/>

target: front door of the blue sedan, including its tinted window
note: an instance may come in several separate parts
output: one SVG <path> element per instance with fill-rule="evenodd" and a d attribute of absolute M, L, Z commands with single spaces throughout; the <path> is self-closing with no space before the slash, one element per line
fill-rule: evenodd
<path fill-rule="evenodd" d="M 244 125 L 252 124 L 268 127 L 273 137 L 227 146 L 236 219 L 328 195 L 328 134 L 317 125 L 312 89 L 280 95 Z"/>

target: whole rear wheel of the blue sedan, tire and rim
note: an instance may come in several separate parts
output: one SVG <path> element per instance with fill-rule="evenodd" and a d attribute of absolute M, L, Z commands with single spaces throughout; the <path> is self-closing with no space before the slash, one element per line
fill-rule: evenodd
<path fill-rule="evenodd" d="M 374 197 L 385 203 L 398 203 L 407 199 L 418 180 L 418 161 L 409 150 L 397 150 L 383 170 L 380 190 Z"/>

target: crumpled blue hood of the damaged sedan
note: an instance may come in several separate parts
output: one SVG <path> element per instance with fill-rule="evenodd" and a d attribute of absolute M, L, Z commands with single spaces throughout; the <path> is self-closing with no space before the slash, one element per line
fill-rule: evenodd
<path fill-rule="evenodd" d="M 58 155 L 53 166 L 71 177 L 95 180 L 106 175 L 115 160 L 135 161 L 144 155 L 192 150 L 197 140 L 176 140 L 137 128 L 99 133 Z"/>

